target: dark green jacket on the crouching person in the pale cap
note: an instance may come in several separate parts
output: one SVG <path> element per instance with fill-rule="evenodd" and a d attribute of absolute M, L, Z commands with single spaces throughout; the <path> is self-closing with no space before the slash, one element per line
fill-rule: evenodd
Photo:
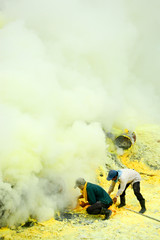
<path fill-rule="evenodd" d="M 88 182 L 86 190 L 88 202 L 90 205 L 96 203 L 97 201 L 101 201 L 105 204 L 112 203 L 112 199 L 101 186 Z"/>

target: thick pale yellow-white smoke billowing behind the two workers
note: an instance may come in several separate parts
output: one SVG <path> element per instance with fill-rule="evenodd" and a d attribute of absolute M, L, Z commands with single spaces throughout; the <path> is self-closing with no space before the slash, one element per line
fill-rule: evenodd
<path fill-rule="evenodd" d="M 107 162 L 103 128 L 160 124 L 159 9 L 0 0 L 1 224 L 68 206 Z"/>

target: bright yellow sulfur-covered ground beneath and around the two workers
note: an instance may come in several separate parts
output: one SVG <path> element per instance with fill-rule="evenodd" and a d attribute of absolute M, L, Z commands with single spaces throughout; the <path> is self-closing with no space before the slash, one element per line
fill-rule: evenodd
<path fill-rule="evenodd" d="M 139 130 L 139 136 L 143 136 L 143 129 Z M 153 137 L 153 132 L 148 133 L 147 141 L 152 139 L 148 144 L 153 147 L 157 131 Z M 142 134 L 142 135 L 141 135 Z M 146 139 L 145 133 L 145 139 Z M 158 133 L 159 134 L 159 133 Z M 145 141 L 145 139 L 143 139 Z M 160 137 L 157 137 L 157 140 Z M 138 144 L 138 143 L 137 143 Z M 157 144 L 157 142 L 156 142 Z M 160 144 L 159 144 L 160 145 Z M 0 230 L 0 239 L 8 240 L 50 240 L 50 239 L 112 239 L 112 240 L 159 240 L 160 239 L 160 170 L 154 170 L 149 167 L 145 161 L 146 159 L 131 159 L 135 154 L 134 148 L 125 152 L 122 156 L 118 156 L 120 161 L 127 168 L 134 168 L 141 173 L 141 193 L 146 199 L 147 211 L 144 215 L 155 218 L 159 221 L 147 218 L 143 215 L 136 214 L 135 212 L 128 211 L 125 208 L 118 209 L 116 205 L 111 206 L 113 214 L 109 220 L 103 221 L 103 216 L 89 216 L 86 214 L 85 209 L 77 207 L 72 210 L 72 213 L 78 213 L 79 216 L 71 219 L 70 221 L 57 221 L 50 219 L 49 221 L 35 224 L 30 228 L 19 227 L 17 229 L 2 228 Z M 159 156 L 159 149 L 156 155 Z M 143 154 L 142 154 L 143 155 Z M 135 155 L 136 156 L 136 155 Z M 152 158 L 152 154 L 149 154 Z M 155 154 L 153 154 L 154 161 Z M 100 174 L 101 173 L 101 174 Z M 106 181 L 106 173 L 102 167 L 97 169 L 97 178 L 101 186 L 106 190 L 110 182 Z M 112 194 L 114 197 L 117 187 Z M 118 200 L 119 203 L 119 200 Z M 117 203 L 117 204 L 118 204 Z M 126 208 L 134 211 L 140 210 L 139 202 L 134 196 L 133 190 L 129 187 L 126 191 Z"/>

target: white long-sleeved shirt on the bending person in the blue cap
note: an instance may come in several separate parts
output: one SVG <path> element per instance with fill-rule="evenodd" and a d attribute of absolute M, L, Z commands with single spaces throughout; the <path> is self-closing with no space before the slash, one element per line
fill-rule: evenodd
<path fill-rule="evenodd" d="M 122 172 L 118 179 L 120 183 L 120 189 L 118 190 L 116 197 L 119 197 L 123 193 L 127 183 L 131 183 L 131 185 L 133 185 L 135 182 L 141 181 L 140 174 L 133 169 L 120 169 L 120 171 Z M 112 181 L 108 192 L 113 192 L 115 185 L 116 182 Z"/>

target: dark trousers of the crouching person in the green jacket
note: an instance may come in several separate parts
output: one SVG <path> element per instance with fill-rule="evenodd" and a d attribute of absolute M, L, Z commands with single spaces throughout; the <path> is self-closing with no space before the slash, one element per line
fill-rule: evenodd
<path fill-rule="evenodd" d="M 86 209 L 86 211 L 89 214 L 96 215 L 96 214 L 101 213 L 102 208 L 108 209 L 111 205 L 112 205 L 112 202 L 110 204 L 105 204 L 105 203 L 102 203 L 102 202 L 98 201 L 98 202 L 92 204 L 91 206 L 89 206 Z"/>

